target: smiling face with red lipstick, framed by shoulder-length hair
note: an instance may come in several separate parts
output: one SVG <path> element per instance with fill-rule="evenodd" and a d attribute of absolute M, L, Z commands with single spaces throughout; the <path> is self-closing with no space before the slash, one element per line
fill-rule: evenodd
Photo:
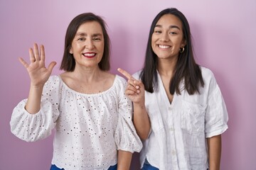
<path fill-rule="evenodd" d="M 82 23 L 70 47 L 70 54 L 75 58 L 75 67 L 98 67 L 103 52 L 104 36 L 100 23 Z"/>

